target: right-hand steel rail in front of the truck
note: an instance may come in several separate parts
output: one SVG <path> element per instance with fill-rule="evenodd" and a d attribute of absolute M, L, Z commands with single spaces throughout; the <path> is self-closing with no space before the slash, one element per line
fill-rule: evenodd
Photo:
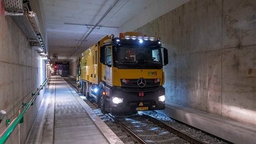
<path fill-rule="evenodd" d="M 162 121 L 159 121 L 158 119 L 155 119 L 154 117 L 151 117 L 150 115 L 146 115 L 145 113 L 139 113 L 142 117 L 149 119 L 149 121 L 152 121 L 153 123 L 156 123 L 160 127 L 163 127 L 164 129 L 167 129 L 171 133 L 175 133 L 178 137 L 181 137 L 182 139 L 185 139 L 186 141 L 189 141 L 189 143 L 195 143 L 195 144 L 205 144 L 203 141 L 200 141 L 199 139 L 195 139 L 194 137 L 191 137 L 187 135 L 186 133 L 183 133 L 174 127 L 171 127 L 170 125 L 167 125 L 163 123 Z"/>

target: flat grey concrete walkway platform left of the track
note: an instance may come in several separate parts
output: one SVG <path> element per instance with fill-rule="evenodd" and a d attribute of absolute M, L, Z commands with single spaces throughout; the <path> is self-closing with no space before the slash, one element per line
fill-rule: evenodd
<path fill-rule="evenodd" d="M 123 142 L 60 76 L 51 76 L 26 143 Z"/>

